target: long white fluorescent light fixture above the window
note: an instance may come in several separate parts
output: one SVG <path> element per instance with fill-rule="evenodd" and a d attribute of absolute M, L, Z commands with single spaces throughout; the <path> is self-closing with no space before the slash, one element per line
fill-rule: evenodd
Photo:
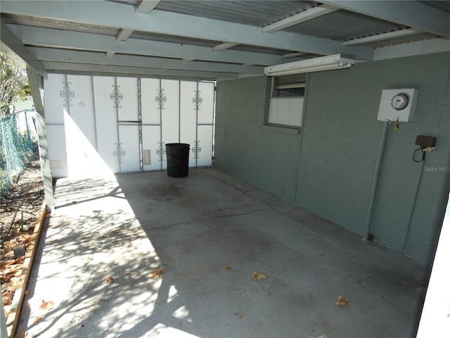
<path fill-rule="evenodd" d="M 264 68 L 267 76 L 290 75 L 300 73 L 320 72 L 322 70 L 333 70 L 349 68 L 354 64 L 350 58 L 342 58 L 340 54 L 310 58 L 309 60 L 282 63 Z"/>

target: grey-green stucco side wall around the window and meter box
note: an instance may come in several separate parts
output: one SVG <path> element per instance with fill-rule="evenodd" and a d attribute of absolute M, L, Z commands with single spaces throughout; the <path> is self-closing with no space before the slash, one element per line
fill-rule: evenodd
<path fill-rule="evenodd" d="M 429 262 L 450 184 L 449 61 L 442 53 L 311 73 L 300 134 L 263 127 L 266 77 L 218 82 L 214 165 L 363 234 L 382 134 L 381 92 L 418 88 L 414 122 L 388 128 L 370 232 Z M 418 134 L 437 136 L 423 163 L 412 160 Z"/>

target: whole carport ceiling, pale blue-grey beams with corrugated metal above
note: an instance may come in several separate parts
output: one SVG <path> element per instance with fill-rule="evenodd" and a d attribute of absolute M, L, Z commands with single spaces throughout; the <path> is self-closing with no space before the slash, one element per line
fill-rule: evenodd
<path fill-rule="evenodd" d="M 399 7 L 398 1 L 364 1 L 354 6 L 356 1 L 345 0 L 162 0 L 151 13 L 135 11 L 140 3 L 86 0 L 75 6 L 65 0 L 1 0 L 2 47 L 34 65 L 39 65 L 40 60 L 45 62 L 49 72 L 63 73 L 66 66 L 68 72 L 82 72 L 83 65 L 89 63 L 86 71 L 110 73 L 110 66 L 117 65 L 120 74 L 136 64 L 147 75 L 161 68 L 173 70 L 170 76 L 176 76 L 177 71 L 181 76 L 191 67 L 199 77 L 219 70 L 231 78 L 261 74 L 266 65 L 329 54 L 371 61 L 375 49 L 389 57 L 385 51 L 392 46 L 399 56 L 450 51 L 449 40 L 437 35 L 447 36 L 442 22 L 446 18 L 450 22 L 450 1 L 404 1 L 404 6 Z M 316 6 L 331 6 L 336 11 L 283 26 L 276 32 L 262 32 L 262 27 L 292 15 L 301 17 Z M 397 20 L 392 8 L 412 21 Z M 433 30 L 437 20 L 422 12 L 439 17 L 441 26 Z M 406 24 L 413 23 L 425 30 L 392 38 L 403 30 L 411 34 Z M 361 38 L 370 39 L 358 40 Z M 342 44 L 354 39 L 355 44 Z M 212 49 L 224 46 L 224 42 L 231 46 Z M 414 44 L 417 48 L 411 48 Z M 428 50 L 428 46 L 434 49 Z M 405 52 L 399 53 L 399 48 Z M 58 68 L 51 69 L 53 65 Z"/>

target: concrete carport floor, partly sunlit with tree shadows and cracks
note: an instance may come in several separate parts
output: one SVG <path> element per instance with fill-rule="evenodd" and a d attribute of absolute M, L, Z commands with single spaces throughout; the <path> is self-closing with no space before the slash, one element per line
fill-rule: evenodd
<path fill-rule="evenodd" d="M 29 338 L 415 336 L 428 267 L 219 170 L 58 180 L 56 206 Z"/>

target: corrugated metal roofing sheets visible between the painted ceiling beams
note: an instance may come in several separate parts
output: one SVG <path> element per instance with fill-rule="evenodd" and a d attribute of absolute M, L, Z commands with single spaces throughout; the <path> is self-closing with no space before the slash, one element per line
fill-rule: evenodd
<path fill-rule="evenodd" d="M 136 0 L 113 0 L 112 2 L 129 4 L 135 6 Z M 422 1 L 430 6 L 450 12 L 450 1 Z M 309 8 L 318 5 L 315 1 L 185 1 L 185 0 L 165 0 L 161 1 L 156 7 L 162 11 L 173 11 L 187 15 L 197 15 L 204 18 L 216 20 L 226 20 L 233 23 L 243 23 L 264 27 L 290 15 L 306 11 Z M 91 32 L 94 34 L 117 35 L 117 29 L 113 27 L 103 27 L 98 25 L 88 25 L 82 23 L 70 23 L 63 20 L 46 20 L 42 18 L 1 14 L 1 18 L 6 23 L 19 25 L 48 27 L 53 29 L 72 30 L 77 32 Z M 314 37 L 323 37 L 338 41 L 347 41 L 360 37 L 378 35 L 385 32 L 393 32 L 409 27 L 387 23 L 383 20 L 369 18 L 365 15 L 359 15 L 348 11 L 335 11 L 328 15 L 323 15 L 314 20 L 288 27 L 288 32 L 294 32 Z M 132 38 L 153 39 L 162 42 L 174 42 L 179 44 L 198 44 L 199 46 L 214 46 L 219 41 L 209 41 L 202 39 L 192 39 L 186 37 L 173 37 L 167 35 L 151 34 L 148 32 L 133 32 Z M 390 44 L 401 44 L 406 42 L 420 41 L 421 39 L 430 39 L 435 36 L 427 34 L 418 34 L 409 37 L 389 39 L 383 42 L 368 44 L 368 46 L 380 47 Z M 276 55 L 287 54 L 290 51 L 266 49 L 264 47 L 240 45 L 233 47 L 236 50 L 260 51 Z"/>

